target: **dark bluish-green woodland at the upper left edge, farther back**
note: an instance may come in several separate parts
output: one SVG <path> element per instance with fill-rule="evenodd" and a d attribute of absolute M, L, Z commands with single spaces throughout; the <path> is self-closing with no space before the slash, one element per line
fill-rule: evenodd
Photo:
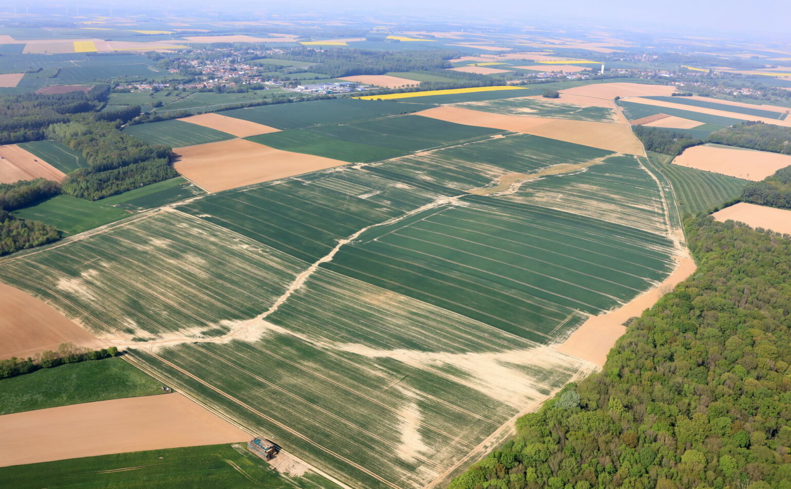
<path fill-rule="evenodd" d="M 0 144 L 37 141 L 54 123 L 70 120 L 71 114 L 93 112 L 107 100 L 110 87 L 97 85 L 89 93 L 53 95 L 21 93 L 0 97 Z"/>

